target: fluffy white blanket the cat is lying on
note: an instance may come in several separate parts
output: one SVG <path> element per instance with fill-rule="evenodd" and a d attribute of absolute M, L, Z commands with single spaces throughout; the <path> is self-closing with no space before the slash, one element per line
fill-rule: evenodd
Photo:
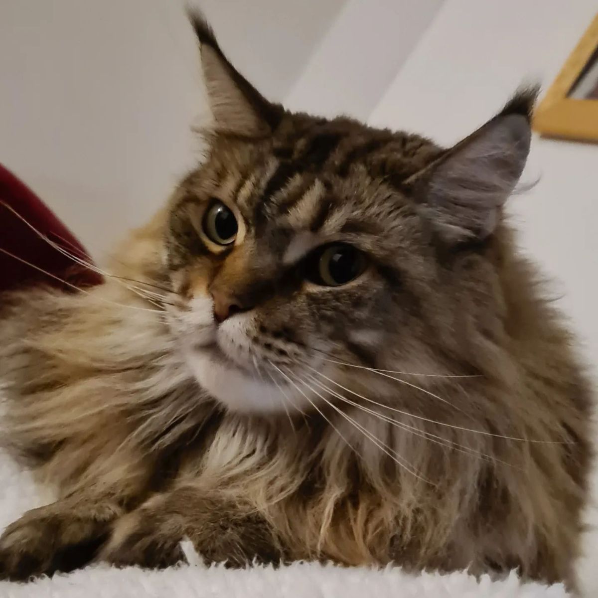
<path fill-rule="evenodd" d="M 0 453 L 0 529 L 24 511 L 51 500 L 29 473 Z M 343 569 L 296 563 L 273 569 L 205 568 L 184 546 L 191 565 L 163 571 L 93 566 L 28 584 L 0 582 L 0 598 L 565 598 L 562 585 L 523 584 L 515 573 L 503 581 L 475 579 L 466 572 L 408 575 L 398 568 Z"/>

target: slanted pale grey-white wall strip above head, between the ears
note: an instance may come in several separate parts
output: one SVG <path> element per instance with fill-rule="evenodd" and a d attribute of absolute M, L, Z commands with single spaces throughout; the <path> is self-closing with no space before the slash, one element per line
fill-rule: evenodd
<path fill-rule="evenodd" d="M 443 1 L 348 0 L 285 105 L 365 120 Z"/>

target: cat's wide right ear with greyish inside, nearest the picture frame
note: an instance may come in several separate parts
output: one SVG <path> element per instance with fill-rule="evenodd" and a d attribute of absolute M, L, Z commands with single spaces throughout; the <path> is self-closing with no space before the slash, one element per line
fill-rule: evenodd
<path fill-rule="evenodd" d="M 483 240 L 495 230 L 527 160 L 537 93 L 518 91 L 492 120 L 407 181 L 419 212 L 445 242 Z"/>

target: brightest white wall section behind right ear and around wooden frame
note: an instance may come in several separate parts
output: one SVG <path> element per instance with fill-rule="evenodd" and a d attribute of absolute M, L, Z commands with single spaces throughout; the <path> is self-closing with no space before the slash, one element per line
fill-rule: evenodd
<path fill-rule="evenodd" d="M 526 78 L 550 85 L 598 10 L 596 0 L 447 0 L 371 114 L 373 124 L 450 145 L 497 111 Z M 535 138 L 523 178 L 541 180 L 511 200 L 521 245 L 559 281 L 560 306 L 598 373 L 598 145 Z M 598 499 L 598 471 L 594 497 Z M 580 566 L 598 596 L 598 510 Z"/>

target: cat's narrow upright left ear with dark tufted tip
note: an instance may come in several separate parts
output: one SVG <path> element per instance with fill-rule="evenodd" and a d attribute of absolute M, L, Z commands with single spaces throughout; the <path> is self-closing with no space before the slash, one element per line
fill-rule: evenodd
<path fill-rule="evenodd" d="M 216 132 L 248 137 L 267 135 L 280 120 L 282 107 L 268 102 L 228 62 L 203 15 L 188 11 L 199 40 L 203 77 Z"/>

